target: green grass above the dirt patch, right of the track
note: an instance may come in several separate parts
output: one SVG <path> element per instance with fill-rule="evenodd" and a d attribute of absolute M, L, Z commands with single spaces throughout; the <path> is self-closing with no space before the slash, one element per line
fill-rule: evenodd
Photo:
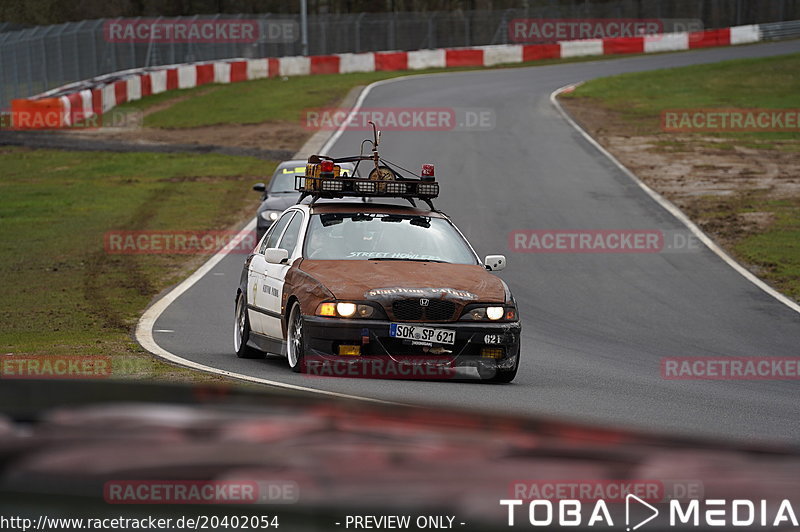
<path fill-rule="evenodd" d="M 800 107 L 800 54 L 622 74 L 590 81 L 564 98 L 602 102 L 645 134 L 670 109 Z M 698 133 L 700 134 L 700 133 Z M 736 141 L 800 140 L 797 132 L 702 133 Z"/>

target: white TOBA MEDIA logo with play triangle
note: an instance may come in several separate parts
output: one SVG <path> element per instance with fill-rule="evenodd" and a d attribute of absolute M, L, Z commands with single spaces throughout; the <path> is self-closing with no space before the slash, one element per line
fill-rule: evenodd
<path fill-rule="evenodd" d="M 525 512 L 527 504 L 527 512 Z M 665 527 L 726 527 L 785 529 L 797 527 L 797 514 L 789 499 L 777 503 L 764 499 L 672 499 L 664 514 L 645 500 L 629 493 L 625 496 L 625 516 L 612 517 L 608 503 L 603 500 L 585 503 L 577 499 L 558 501 L 536 499 L 501 499 L 500 506 L 507 510 L 508 526 L 527 521 L 532 527 L 598 527 L 614 529 L 624 526 L 626 531 L 638 530 L 653 522 L 659 529 Z M 527 515 L 525 515 L 527 514 Z M 616 512 L 615 512 L 616 514 Z M 524 515 L 524 517 L 522 517 Z M 522 517 L 522 518 L 521 518 Z M 527 517 L 527 519 L 525 519 Z M 660 520 L 656 521 L 659 517 Z M 616 520 L 615 520 L 616 519 Z M 654 522 L 656 521 L 656 522 Z M 624 525 L 623 525 L 624 522 Z"/>

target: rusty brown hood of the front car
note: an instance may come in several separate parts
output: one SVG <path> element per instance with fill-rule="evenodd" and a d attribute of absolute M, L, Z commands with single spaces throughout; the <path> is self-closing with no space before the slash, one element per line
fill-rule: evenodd
<path fill-rule="evenodd" d="M 303 260 L 300 269 L 336 299 L 453 298 L 504 302 L 503 282 L 483 266 L 438 262 Z"/>

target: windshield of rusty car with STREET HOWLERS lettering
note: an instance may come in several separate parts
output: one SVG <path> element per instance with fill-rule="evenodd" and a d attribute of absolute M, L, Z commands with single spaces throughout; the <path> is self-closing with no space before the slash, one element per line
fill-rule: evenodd
<path fill-rule="evenodd" d="M 390 214 L 314 215 L 304 256 L 322 260 L 477 263 L 469 245 L 447 220 Z"/>

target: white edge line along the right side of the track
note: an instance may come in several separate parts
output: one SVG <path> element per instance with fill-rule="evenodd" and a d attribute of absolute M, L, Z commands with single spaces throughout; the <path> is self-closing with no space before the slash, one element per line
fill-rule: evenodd
<path fill-rule="evenodd" d="M 728 255 L 721 247 L 719 247 L 716 242 L 714 242 L 711 237 L 709 237 L 706 233 L 704 233 L 694 222 L 692 222 L 688 216 L 686 216 L 683 211 L 681 211 L 678 207 L 675 206 L 671 201 L 666 199 L 664 196 L 647 186 L 644 181 L 639 179 L 639 177 L 630 171 L 624 164 L 619 162 L 616 157 L 614 157 L 611 152 L 605 149 L 599 142 L 597 142 L 589 133 L 586 132 L 575 120 L 572 119 L 571 116 L 564 110 L 561 104 L 558 102 L 558 96 L 568 90 L 574 90 L 575 88 L 582 85 L 584 82 L 580 83 L 570 83 L 569 85 L 565 85 L 559 89 L 554 90 L 550 93 L 550 103 L 558 110 L 564 120 L 569 123 L 576 131 L 578 131 L 583 137 L 592 145 L 594 146 L 597 151 L 607 157 L 612 163 L 614 163 L 622 172 L 631 178 L 639 187 L 644 190 L 648 196 L 650 196 L 656 203 L 658 203 L 661 207 L 663 207 L 667 212 L 672 214 L 675 218 L 678 219 L 683 225 L 689 228 L 689 230 L 694 234 L 703 244 L 706 245 L 708 249 L 713 251 L 719 258 L 725 261 L 728 266 L 736 270 L 742 277 L 756 285 L 758 288 L 769 294 L 770 296 L 774 297 L 791 310 L 800 313 L 800 305 L 792 301 L 787 296 L 781 294 L 767 283 L 756 277 L 750 270 L 742 266 L 739 262 L 737 262 L 733 257 Z"/>

